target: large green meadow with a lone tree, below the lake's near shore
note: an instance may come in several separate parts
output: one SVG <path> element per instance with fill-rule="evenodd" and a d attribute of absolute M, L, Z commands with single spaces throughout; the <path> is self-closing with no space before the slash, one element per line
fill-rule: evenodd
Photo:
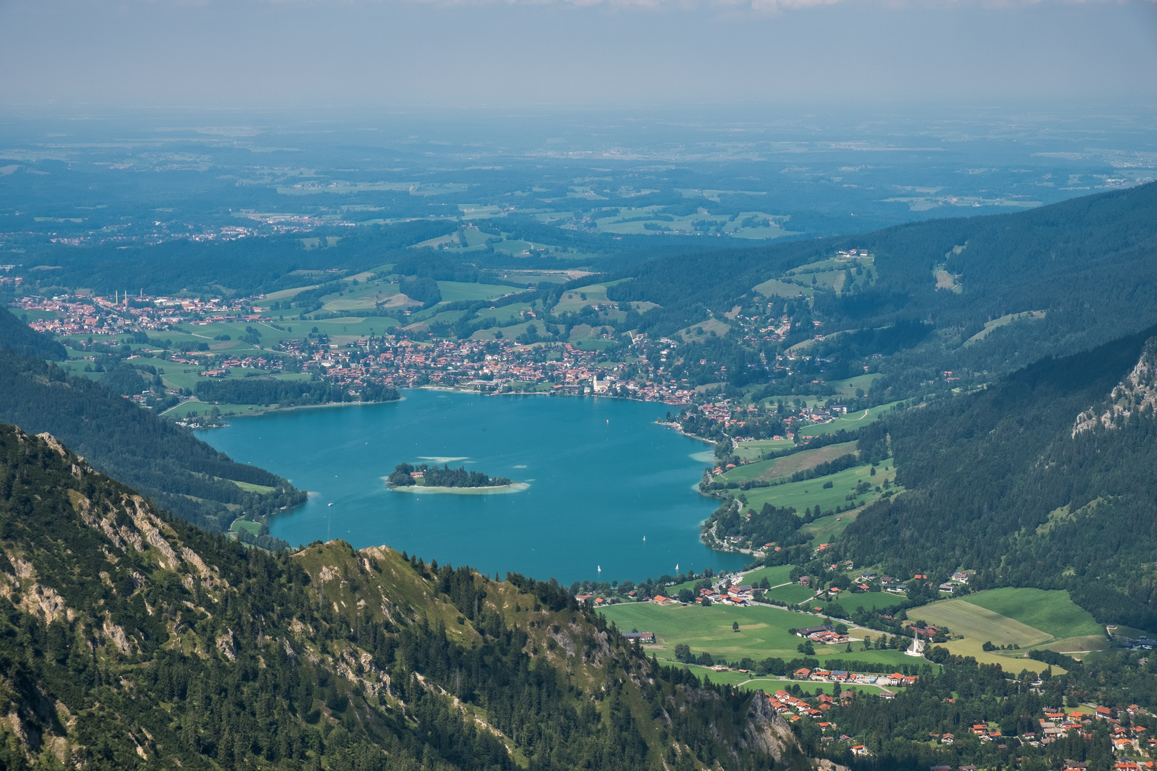
<path fill-rule="evenodd" d="M 658 644 L 648 646 L 658 655 L 670 658 L 675 646 L 687 644 L 692 651 L 708 652 L 716 658 L 738 661 L 744 657 L 756 660 L 767 657 L 779 657 L 783 660 L 798 658 L 796 650 L 801 639 L 788 633 L 788 629 L 812 627 L 819 618 L 810 614 L 793 613 L 771 606 L 753 606 L 736 608 L 713 605 L 705 608 L 699 605 L 657 606 L 653 602 L 631 602 L 614 605 L 603 613 L 613 621 L 620 630 L 655 632 Z M 739 631 L 731 631 L 731 624 L 739 622 Z M 817 646 L 816 658 L 826 661 L 830 658 L 856 659 L 860 661 L 878 661 L 889 665 L 911 663 L 912 658 L 901 651 L 860 651 L 860 644 L 853 644 L 853 653 L 847 653 L 843 646 Z"/>

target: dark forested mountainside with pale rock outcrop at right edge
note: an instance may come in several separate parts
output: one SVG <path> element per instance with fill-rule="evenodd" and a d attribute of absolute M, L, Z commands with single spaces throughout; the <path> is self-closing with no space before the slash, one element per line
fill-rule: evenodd
<path fill-rule="evenodd" d="M 1155 334 L 890 418 L 908 491 L 869 506 L 838 550 L 894 574 L 1068 588 L 1098 621 L 1157 629 Z"/>

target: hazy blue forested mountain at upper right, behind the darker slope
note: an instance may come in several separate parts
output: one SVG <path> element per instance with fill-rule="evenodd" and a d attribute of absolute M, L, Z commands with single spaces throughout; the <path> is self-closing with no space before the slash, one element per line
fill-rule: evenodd
<path fill-rule="evenodd" d="M 850 286 L 848 274 L 839 290 L 823 283 L 809 288 L 798 283 L 806 275 L 797 270 L 789 277 L 796 283 L 765 288 L 768 297 L 753 289 L 853 249 L 867 251 L 872 261 L 867 272 L 849 266 L 857 273 Z M 889 376 L 882 388 L 901 393 L 943 370 L 980 383 L 994 372 L 1071 354 L 1157 323 L 1155 250 L 1157 183 L 1151 183 L 1016 214 L 671 257 L 622 270 L 618 276 L 629 281 L 612 287 L 607 296 L 658 303 L 662 307 L 644 313 L 640 325 L 656 335 L 671 335 L 709 317 L 735 326 L 722 318 L 734 306 L 744 314 L 784 314 L 799 333 L 789 343 L 816 333 L 826 338 L 809 349 L 815 356 L 867 359 L 896 354 L 874 366 Z M 768 299 L 772 311 L 765 307 Z M 982 343 L 964 344 L 987 323 L 1030 311 L 1044 313 L 990 329 Z M 876 332 L 831 336 L 869 329 Z"/>

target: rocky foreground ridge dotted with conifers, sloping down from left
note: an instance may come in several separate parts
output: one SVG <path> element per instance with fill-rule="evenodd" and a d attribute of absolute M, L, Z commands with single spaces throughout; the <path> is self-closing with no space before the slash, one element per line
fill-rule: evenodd
<path fill-rule="evenodd" d="M 767 699 L 661 668 L 553 581 L 278 555 L 0 427 L 0 766 L 811 768 Z"/>

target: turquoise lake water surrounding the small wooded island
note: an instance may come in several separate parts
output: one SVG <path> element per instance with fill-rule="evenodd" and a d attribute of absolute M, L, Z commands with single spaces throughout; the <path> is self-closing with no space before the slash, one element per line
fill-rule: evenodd
<path fill-rule="evenodd" d="M 699 524 L 717 504 L 695 492 L 707 457 L 693 455 L 710 446 L 657 425 L 666 409 L 414 390 L 400 402 L 273 413 L 199 436 L 311 492 L 309 503 L 270 525 L 294 546 L 386 544 L 427 562 L 565 584 L 639 581 L 673 576 L 676 565 L 739 568 L 742 555 L 699 541 Z M 470 496 L 385 487 L 397 464 L 430 458 L 457 458 L 455 468 L 530 487 Z"/>

